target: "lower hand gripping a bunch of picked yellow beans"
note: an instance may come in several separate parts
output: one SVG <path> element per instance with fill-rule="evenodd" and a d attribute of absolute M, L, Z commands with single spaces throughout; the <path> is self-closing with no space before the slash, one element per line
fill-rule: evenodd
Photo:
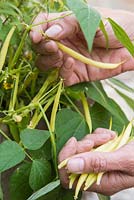
<path fill-rule="evenodd" d="M 60 179 L 68 188 L 68 172 L 75 174 L 106 172 L 100 185 L 93 184 L 88 191 L 113 195 L 123 189 L 134 187 L 134 142 L 124 145 L 114 152 L 90 152 L 93 147 L 102 145 L 113 139 L 115 134 L 107 129 L 96 129 L 77 142 L 71 138 L 59 154 L 59 162 L 72 157 L 66 169 L 60 169 Z"/>

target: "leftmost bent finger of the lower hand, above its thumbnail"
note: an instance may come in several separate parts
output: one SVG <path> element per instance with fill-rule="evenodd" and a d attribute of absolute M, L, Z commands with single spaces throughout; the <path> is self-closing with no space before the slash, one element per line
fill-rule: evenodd
<path fill-rule="evenodd" d="M 76 151 L 77 151 L 77 140 L 75 137 L 71 137 L 59 153 L 58 156 L 59 162 L 62 162 L 63 160 L 72 155 L 75 155 Z"/>

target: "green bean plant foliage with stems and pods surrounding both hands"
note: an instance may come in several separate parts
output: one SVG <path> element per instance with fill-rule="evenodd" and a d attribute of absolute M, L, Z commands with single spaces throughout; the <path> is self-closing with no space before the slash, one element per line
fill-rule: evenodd
<path fill-rule="evenodd" d="M 111 118 L 112 129 L 118 133 L 128 123 L 125 113 L 107 96 L 101 82 L 65 88 L 57 69 L 40 72 L 36 68 L 36 54 L 29 38 L 32 21 L 39 12 L 66 10 L 78 19 L 89 51 L 99 25 L 108 40 L 100 14 L 84 0 L 0 1 L 2 177 L 12 169 L 6 186 L 1 181 L 1 200 L 5 199 L 2 192 L 5 189 L 10 200 L 73 199 L 73 191 L 61 186 L 57 168 L 58 153 L 66 141 L 72 136 L 80 140 L 97 127 L 108 128 Z M 108 21 L 119 41 L 133 55 L 134 46 L 125 31 L 112 19 Z M 115 79 L 110 81 L 133 90 Z M 101 195 L 99 198 L 109 199 Z"/>

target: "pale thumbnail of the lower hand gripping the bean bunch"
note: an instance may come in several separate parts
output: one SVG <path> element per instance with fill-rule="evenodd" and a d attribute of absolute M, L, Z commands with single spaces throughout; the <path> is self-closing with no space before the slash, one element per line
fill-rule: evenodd
<path fill-rule="evenodd" d="M 81 173 L 84 169 L 84 160 L 82 158 L 70 159 L 67 163 L 67 168 L 72 173 Z"/>

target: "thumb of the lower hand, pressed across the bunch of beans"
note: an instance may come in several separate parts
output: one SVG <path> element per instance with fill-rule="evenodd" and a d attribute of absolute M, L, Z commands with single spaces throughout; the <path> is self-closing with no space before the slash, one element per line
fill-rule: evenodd
<path fill-rule="evenodd" d="M 130 160 L 133 160 L 132 157 Z M 67 168 L 69 172 L 76 174 L 105 171 L 128 172 L 129 165 L 128 152 L 126 153 L 122 148 L 115 152 L 86 152 L 77 154 L 68 161 Z"/>

